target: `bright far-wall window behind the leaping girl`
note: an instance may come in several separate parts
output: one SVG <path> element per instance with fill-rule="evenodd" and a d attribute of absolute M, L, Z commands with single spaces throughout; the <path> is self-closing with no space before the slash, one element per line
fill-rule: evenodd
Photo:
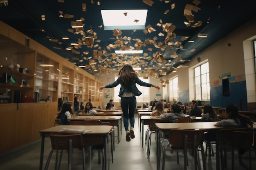
<path fill-rule="evenodd" d="M 115 77 L 115 80 L 117 80 L 118 77 Z M 143 79 L 143 77 L 139 77 L 139 79 L 141 79 L 143 82 L 149 83 L 149 78 L 148 79 Z M 116 86 L 114 88 L 114 102 L 119 102 L 119 90 L 120 90 L 120 84 L 118 86 Z M 144 87 L 144 86 L 140 86 L 139 84 L 136 84 L 137 88 L 139 89 L 139 91 L 141 91 L 142 95 L 140 96 L 136 96 L 137 102 L 145 102 L 148 103 L 149 102 L 149 87 Z"/>

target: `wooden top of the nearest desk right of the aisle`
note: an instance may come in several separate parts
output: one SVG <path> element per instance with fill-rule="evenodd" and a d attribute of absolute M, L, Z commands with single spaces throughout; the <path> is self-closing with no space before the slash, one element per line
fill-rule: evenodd
<path fill-rule="evenodd" d="M 221 129 L 223 126 L 214 126 L 216 122 L 189 122 L 189 123 L 157 123 L 160 130 L 171 130 L 171 129 Z"/>

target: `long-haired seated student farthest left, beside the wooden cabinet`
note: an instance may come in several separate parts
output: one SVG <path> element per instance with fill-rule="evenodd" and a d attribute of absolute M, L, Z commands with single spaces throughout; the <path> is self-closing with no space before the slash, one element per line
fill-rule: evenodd
<path fill-rule="evenodd" d="M 68 119 L 74 117 L 72 110 L 73 106 L 70 102 L 63 104 L 61 112 L 57 116 L 57 119 L 60 119 L 60 125 L 70 125 L 70 120 Z"/>

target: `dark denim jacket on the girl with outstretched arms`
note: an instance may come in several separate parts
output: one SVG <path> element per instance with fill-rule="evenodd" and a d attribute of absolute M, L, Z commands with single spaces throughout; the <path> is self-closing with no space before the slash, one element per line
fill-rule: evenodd
<path fill-rule="evenodd" d="M 125 85 L 125 84 L 121 84 L 119 77 L 118 77 L 115 82 L 106 85 L 105 88 L 112 88 L 112 87 L 116 87 L 118 84 L 121 84 L 121 88 L 120 88 L 119 95 L 118 95 L 119 97 L 121 97 L 121 95 L 123 94 L 124 91 L 131 92 L 131 93 L 135 94 L 136 96 L 139 96 L 142 93 L 136 87 L 136 83 L 139 84 L 140 86 L 146 86 L 146 87 L 151 87 L 151 85 L 152 85 L 150 83 L 141 81 L 141 79 L 139 79 L 139 77 L 137 77 L 134 82 L 131 82 L 131 83 Z"/>

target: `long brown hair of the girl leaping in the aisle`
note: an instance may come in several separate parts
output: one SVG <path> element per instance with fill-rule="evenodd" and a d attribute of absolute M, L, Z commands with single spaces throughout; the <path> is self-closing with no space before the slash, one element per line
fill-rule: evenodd
<path fill-rule="evenodd" d="M 133 70 L 130 64 L 125 64 L 119 71 L 118 74 L 121 84 L 130 84 L 134 82 L 138 77 L 138 73 Z"/>

